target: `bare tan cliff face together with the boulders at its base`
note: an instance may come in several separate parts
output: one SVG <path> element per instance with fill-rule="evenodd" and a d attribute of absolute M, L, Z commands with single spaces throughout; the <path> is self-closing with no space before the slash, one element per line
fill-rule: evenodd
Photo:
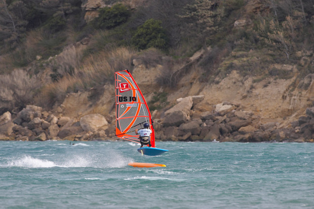
<path fill-rule="evenodd" d="M 254 77 L 232 71 L 220 82 L 199 81 L 198 71 L 189 71 L 176 87 L 155 82 L 162 65 L 146 68 L 139 60 L 133 76 L 147 101 L 154 92 L 167 91 L 162 109 L 152 112 L 156 140 L 232 142 L 313 142 L 314 76 L 303 82 L 306 90 L 289 90 L 291 79 Z M 294 71 L 293 66 L 277 66 Z M 112 78 L 113 79 L 113 78 Z M 116 140 L 114 86 L 104 87 L 97 102 L 89 92 L 69 93 L 62 105 L 49 112 L 27 106 L 17 115 L 0 117 L 2 140 Z M 289 93 L 288 93 L 289 92 Z"/>

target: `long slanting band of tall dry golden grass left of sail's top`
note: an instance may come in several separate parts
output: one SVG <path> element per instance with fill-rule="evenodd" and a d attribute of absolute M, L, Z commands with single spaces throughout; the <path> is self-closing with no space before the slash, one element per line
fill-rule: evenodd
<path fill-rule="evenodd" d="M 92 87 L 102 88 L 107 82 L 113 84 L 114 72 L 130 68 L 134 53 L 136 51 L 121 47 L 88 57 L 83 64 L 74 68 L 72 75 L 67 74 L 58 82 L 46 85 L 36 99 L 38 104 L 52 107 L 62 103 L 67 93 Z"/>

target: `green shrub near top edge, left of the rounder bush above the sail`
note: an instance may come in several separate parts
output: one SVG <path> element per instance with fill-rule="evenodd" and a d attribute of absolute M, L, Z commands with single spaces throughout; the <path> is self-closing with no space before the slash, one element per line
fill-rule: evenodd
<path fill-rule="evenodd" d="M 99 16 L 92 22 L 94 27 L 110 29 L 128 20 L 130 12 L 123 4 L 116 4 L 112 8 L 105 7 L 99 10 Z"/>

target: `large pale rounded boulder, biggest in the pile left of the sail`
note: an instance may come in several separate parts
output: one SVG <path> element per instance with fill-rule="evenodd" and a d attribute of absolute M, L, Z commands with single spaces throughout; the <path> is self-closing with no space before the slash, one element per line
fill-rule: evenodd
<path fill-rule="evenodd" d="M 100 114 L 90 114 L 83 116 L 80 120 L 81 127 L 85 131 L 96 131 L 100 127 L 103 127 L 103 130 L 107 129 L 108 127 L 104 127 L 108 125 L 105 117 Z"/>

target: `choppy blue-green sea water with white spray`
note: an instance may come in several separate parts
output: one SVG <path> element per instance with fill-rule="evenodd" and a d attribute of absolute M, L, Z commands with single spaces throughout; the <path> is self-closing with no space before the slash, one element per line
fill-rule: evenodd
<path fill-rule="evenodd" d="M 0 142 L 0 208 L 314 208 L 314 144 L 74 143 Z"/>

